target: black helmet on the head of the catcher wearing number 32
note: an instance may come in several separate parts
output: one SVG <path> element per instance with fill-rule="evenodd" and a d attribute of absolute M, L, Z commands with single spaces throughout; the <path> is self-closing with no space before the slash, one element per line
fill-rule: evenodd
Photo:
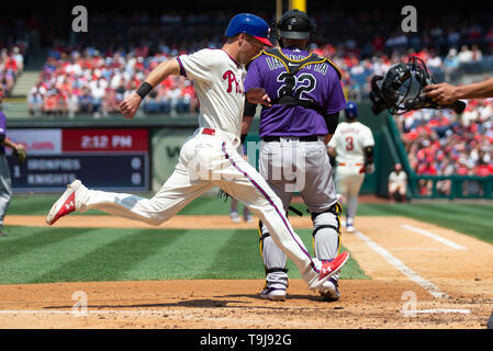
<path fill-rule="evenodd" d="M 315 35 L 315 22 L 306 13 L 298 9 L 287 11 L 279 22 L 273 24 L 272 30 L 281 47 L 283 47 L 282 38 L 310 41 Z"/>

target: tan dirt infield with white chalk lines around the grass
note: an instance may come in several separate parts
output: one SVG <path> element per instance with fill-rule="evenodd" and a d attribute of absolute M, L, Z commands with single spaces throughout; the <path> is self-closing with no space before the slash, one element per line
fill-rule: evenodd
<path fill-rule="evenodd" d="M 83 224 L 81 219 L 83 218 Z M 5 225 L 44 226 L 9 216 Z M 480 328 L 493 309 L 493 246 L 404 217 L 359 217 L 343 235 L 371 280 L 343 280 L 341 298 L 321 302 L 291 280 L 285 302 L 259 298 L 264 281 L 158 281 L 0 285 L 1 328 Z M 147 227 L 102 216 L 57 226 Z M 177 216 L 161 228 L 248 228 L 224 216 Z M 292 218 L 310 227 L 310 218 Z M 382 225 L 383 224 L 383 225 Z M 150 226 L 148 226 L 150 228 Z M 87 309 L 78 303 L 87 299 Z"/>

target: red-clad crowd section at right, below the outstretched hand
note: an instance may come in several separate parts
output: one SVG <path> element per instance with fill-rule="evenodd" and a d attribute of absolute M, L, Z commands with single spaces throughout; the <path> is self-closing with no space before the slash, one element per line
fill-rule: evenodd
<path fill-rule="evenodd" d="M 395 116 L 411 168 L 418 176 L 493 176 L 493 100 L 470 100 L 461 115 L 450 110 L 418 110 Z M 450 193 L 450 180 L 437 182 L 438 193 Z M 422 180 L 422 194 L 432 192 Z M 464 184 L 477 193 L 478 182 Z"/>

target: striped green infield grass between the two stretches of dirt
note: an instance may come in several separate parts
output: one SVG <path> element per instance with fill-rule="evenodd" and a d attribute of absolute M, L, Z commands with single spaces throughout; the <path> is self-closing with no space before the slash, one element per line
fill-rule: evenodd
<path fill-rule="evenodd" d="M 255 230 L 8 227 L 0 237 L 0 284 L 264 279 Z M 311 230 L 300 230 L 311 250 Z M 298 269 L 289 262 L 290 278 Z M 368 279 L 356 261 L 341 279 Z"/>

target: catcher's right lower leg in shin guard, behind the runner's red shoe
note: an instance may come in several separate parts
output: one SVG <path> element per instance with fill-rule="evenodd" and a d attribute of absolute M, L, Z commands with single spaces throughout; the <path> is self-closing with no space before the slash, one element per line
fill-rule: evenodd
<path fill-rule="evenodd" d="M 336 204 L 327 212 L 312 213 L 313 247 L 321 261 L 333 260 L 340 250 L 340 210 Z M 339 274 L 335 274 L 318 290 L 325 301 L 339 299 L 338 280 Z"/>

